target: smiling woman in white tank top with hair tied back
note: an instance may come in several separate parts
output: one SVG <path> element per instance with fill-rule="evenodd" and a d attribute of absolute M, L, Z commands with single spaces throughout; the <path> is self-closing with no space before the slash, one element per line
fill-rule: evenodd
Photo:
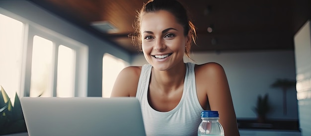
<path fill-rule="evenodd" d="M 111 96 L 139 99 L 147 136 L 197 136 L 203 110 L 218 111 L 225 135 L 239 136 L 223 67 L 184 63 L 196 31 L 183 5 L 150 0 L 137 16 L 133 40 L 149 64 L 124 68 Z"/>

